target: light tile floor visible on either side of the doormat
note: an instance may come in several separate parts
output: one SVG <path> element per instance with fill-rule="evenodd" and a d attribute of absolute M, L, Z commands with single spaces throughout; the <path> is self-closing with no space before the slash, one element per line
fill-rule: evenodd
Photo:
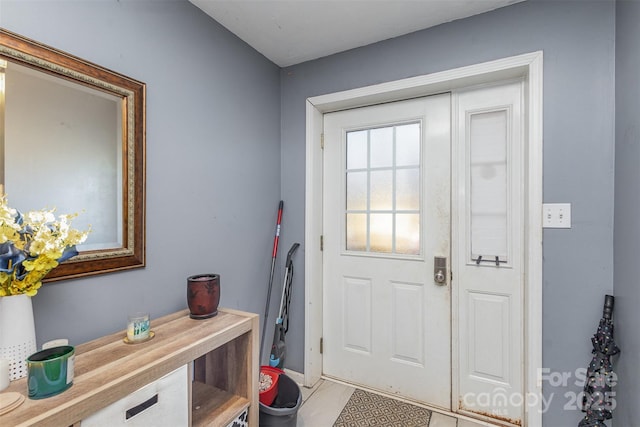
<path fill-rule="evenodd" d="M 302 405 L 298 410 L 297 427 L 332 427 L 342 408 L 347 404 L 354 387 L 320 380 L 313 388 L 300 387 Z M 429 427 L 485 427 L 484 422 L 474 422 L 433 411 Z"/>

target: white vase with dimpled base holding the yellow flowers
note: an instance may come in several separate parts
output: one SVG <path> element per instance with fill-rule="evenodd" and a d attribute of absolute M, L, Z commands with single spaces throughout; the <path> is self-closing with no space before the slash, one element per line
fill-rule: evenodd
<path fill-rule="evenodd" d="M 27 357 L 36 351 L 31 297 L 0 297 L 0 359 L 9 360 L 11 381 L 27 376 Z"/>

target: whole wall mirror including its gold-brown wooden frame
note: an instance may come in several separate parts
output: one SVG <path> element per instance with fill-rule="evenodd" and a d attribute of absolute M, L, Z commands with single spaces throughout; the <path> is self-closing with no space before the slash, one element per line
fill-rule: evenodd
<path fill-rule="evenodd" d="M 3 82 L 4 81 L 4 82 Z M 46 281 L 145 263 L 144 83 L 0 28 L 0 183 L 91 226 Z"/>

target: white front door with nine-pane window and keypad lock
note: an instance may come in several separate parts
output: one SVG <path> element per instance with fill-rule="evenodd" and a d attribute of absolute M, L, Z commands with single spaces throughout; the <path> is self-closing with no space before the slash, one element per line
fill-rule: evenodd
<path fill-rule="evenodd" d="M 323 373 L 446 409 L 450 129 L 449 94 L 326 114 L 323 167 Z"/>

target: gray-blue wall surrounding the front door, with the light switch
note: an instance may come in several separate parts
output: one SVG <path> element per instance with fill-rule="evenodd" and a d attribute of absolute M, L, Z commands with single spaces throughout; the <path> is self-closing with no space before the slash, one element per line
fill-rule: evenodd
<path fill-rule="evenodd" d="M 550 427 L 582 417 L 564 410 L 565 393 L 581 390 L 575 370 L 591 358 L 613 289 L 614 37 L 611 1 L 527 1 L 281 73 L 282 197 L 296 213 L 287 230 L 302 236 L 307 97 L 544 51 L 544 201 L 571 203 L 573 216 L 570 230 L 544 232 L 543 363 L 572 376 L 566 386 L 544 384 Z M 302 370 L 304 295 L 293 299 L 289 363 Z"/>

